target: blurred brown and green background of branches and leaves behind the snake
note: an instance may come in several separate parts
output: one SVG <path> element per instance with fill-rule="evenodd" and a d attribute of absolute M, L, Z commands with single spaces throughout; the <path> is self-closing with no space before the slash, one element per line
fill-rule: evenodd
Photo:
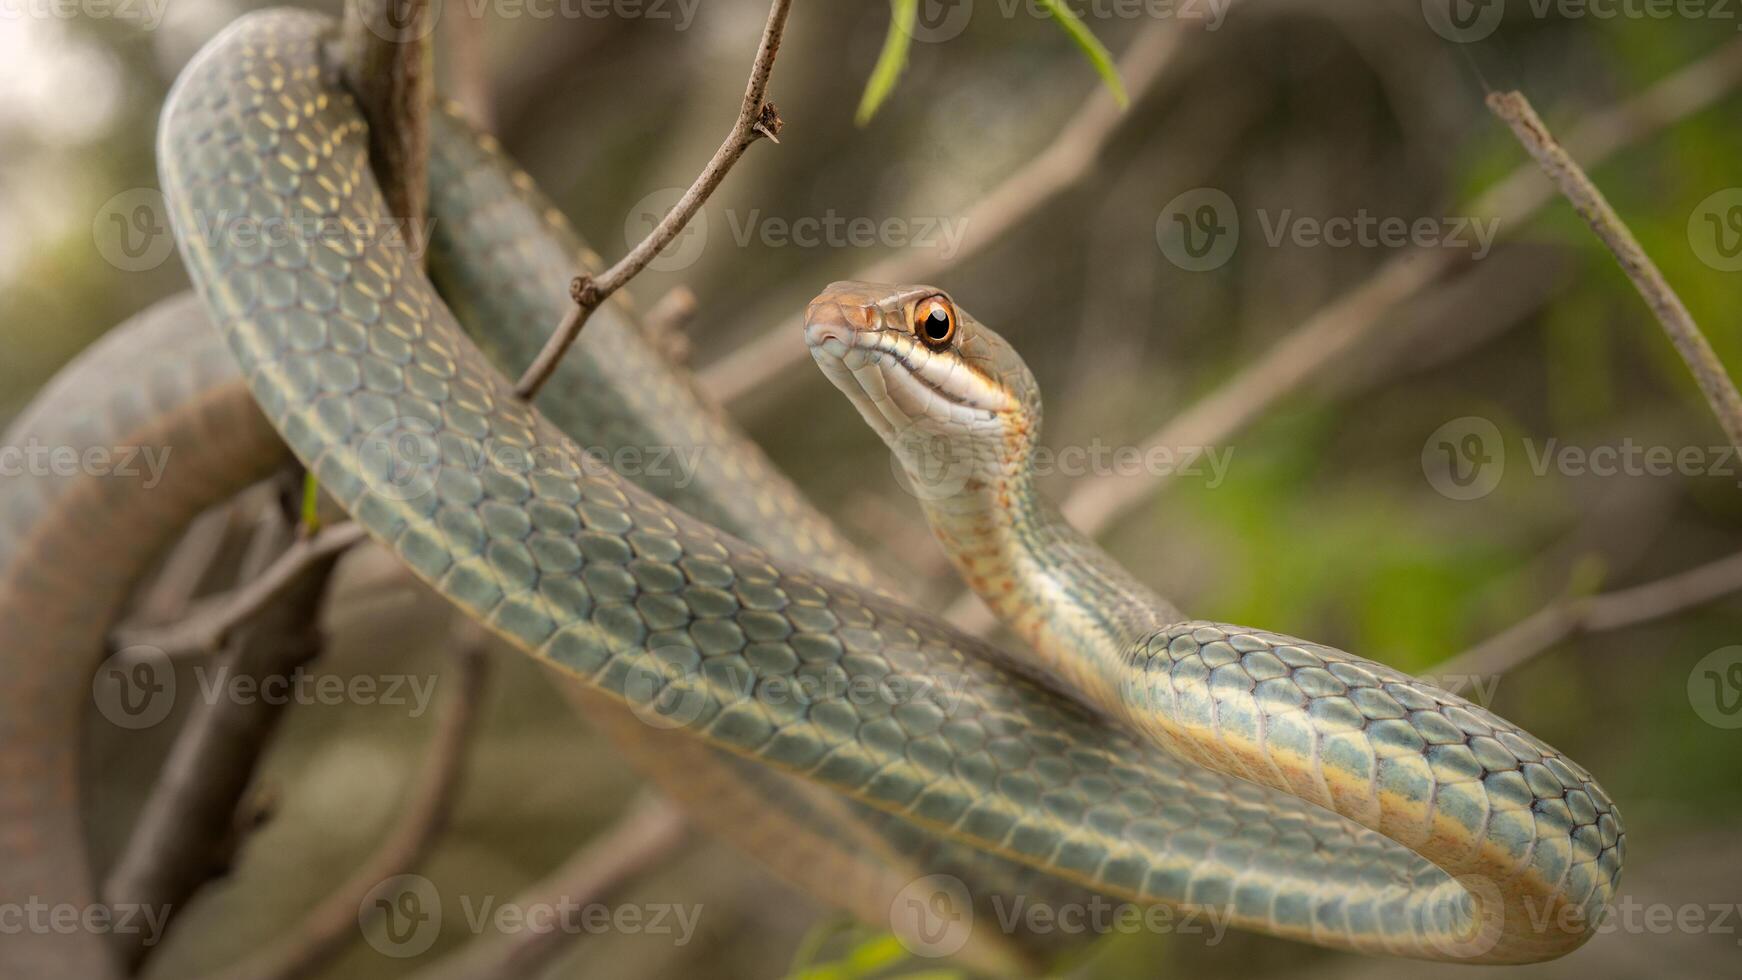
<path fill-rule="evenodd" d="M 1733 977 L 1742 576 L 1712 562 L 1742 547 L 1742 461 L 1615 261 L 1482 99 L 1516 87 L 1535 101 L 1737 366 L 1742 14 L 1455 3 L 1073 2 L 1127 59 L 1131 106 L 1115 113 L 1082 50 L 1030 3 L 925 0 L 909 64 L 862 127 L 890 7 L 800 3 L 770 89 L 782 143 L 754 146 L 631 292 L 646 308 L 693 291 L 685 341 L 700 378 L 942 611 L 958 583 L 791 317 L 834 279 L 920 272 L 902 279 L 949 289 L 1033 367 L 1043 440 L 1082 449 L 1059 454 L 1047 491 L 1075 498 L 1139 576 L 1193 616 L 1462 679 L 1615 797 L 1624 900 L 1704 912 L 1697 928 L 1618 916 L 1580 952 L 1509 973 Z M 19 0 L 0 14 L 0 421 L 113 324 L 186 287 L 152 197 L 157 111 L 246 9 Z M 476 68 L 455 68 L 460 42 L 437 47 L 444 87 L 488 111 L 606 259 L 716 146 L 766 16 L 761 0 L 439 10 L 439 37 L 483 42 Z M 465 17 L 476 33 L 451 23 Z M 1195 472 L 1167 472 L 1146 451 L 1157 433 L 1205 449 Z M 1676 578 L 1690 569 L 1709 571 L 1700 588 Z M 380 578 L 341 574 L 322 674 L 436 670 L 441 602 Z M 1664 581 L 1657 604 L 1604 606 L 1636 623 L 1582 630 L 1554 613 Z M 1526 620 L 1535 632 L 1507 634 Z M 639 792 L 537 667 L 496 660 L 456 816 L 420 869 L 449 898 L 439 940 L 404 959 L 355 942 L 326 977 L 430 966 L 479 931 L 456 896 L 516 895 Z M 273 818 L 178 917 L 150 975 L 206 973 L 298 921 L 392 823 L 430 724 L 406 707 L 291 710 L 261 775 Z M 169 733 L 101 759 L 99 849 L 115 848 Z M 618 900 L 700 916 L 686 942 L 578 936 L 550 977 L 958 970 L 841 923 L 707 837 Z M 1399 970 L 1458 971 L 1179 931 L 1106 935 L 1054 966 Z"/>

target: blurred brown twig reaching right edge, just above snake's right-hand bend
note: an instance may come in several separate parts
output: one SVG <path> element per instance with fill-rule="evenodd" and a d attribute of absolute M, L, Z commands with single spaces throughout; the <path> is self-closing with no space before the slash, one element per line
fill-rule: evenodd
<path fill-rule="evenodd" d="M 1563 599 L 1446 660 L 1434 674 L 1505 674 L 1577 635 L 1662 620 L 1737 592 L 1742 592 L 1742 554 L 1646 585 Z"/>

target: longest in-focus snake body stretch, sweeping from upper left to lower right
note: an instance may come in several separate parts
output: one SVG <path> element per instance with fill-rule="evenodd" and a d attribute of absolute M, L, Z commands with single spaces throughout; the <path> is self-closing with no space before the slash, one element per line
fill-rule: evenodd
<path fill-rule="evenodd" d="M 514 399 L 401 242 L 239 249 L 190 233 L 213 214 L 383 223 L 362 120 L 321 70 L 326 30 L 305 12 L 228 28 L 171 94 L 159 165 L 183 258 L 261 411 L 434 588 L 611 698 L 686 705 L 685 731 L 711 745 L 1111 893 L 1430 959 L 1526 961 L 1583 940 L 1587 930 L 1550 930 L 1535 945 L 1484 945 L 1495 926 L 1524 928 L 1510 921 L 1523 909 L 1338 813 L 1183 762 L 932 618 L 770 560 L 587 467 Z M 394 451 L 408 440 L 432 460 L 409 482 Z M 1202 637 L 1202 656 L 1226 651 Z M 775 696 L 800 677 L 908 696 Z M 1523 789 L 1524 813 L 1566 795 Z M 1453 832 L 1469 815 L 1434 818 Z M 1597 884 L 1563 896 L 1554 848 L 1524 842 L 1500 858 L 1503 896 L 1552 909 L 1608 895 Z"/>

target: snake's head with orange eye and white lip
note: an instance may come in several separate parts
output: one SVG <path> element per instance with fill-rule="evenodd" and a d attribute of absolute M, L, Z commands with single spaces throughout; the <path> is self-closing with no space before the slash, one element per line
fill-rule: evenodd
<path fill-rule="evenodd" d="M 1035 376 L 942 289 L 834 282 L 805 312 L 805 343 L 922 496 L 1000 486 L 1026 465 Z"/>

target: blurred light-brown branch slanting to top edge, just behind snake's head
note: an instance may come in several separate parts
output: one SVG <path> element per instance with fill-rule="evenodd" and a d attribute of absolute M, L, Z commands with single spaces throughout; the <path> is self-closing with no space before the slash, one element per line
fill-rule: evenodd
<path fill-rule="evenodd" d="M 1118 73 L 1132 92 L 1132 104 L 1141 101 L 1174 63 L 1185 38 L 1185 24 L 1167 19 L 1144 28 L 1118 59 Z M 871 266 L 854 279 L 868 282 L 925 282 L 986 251 L 1009 230 L 1056 200 L 1087 176 L 1101 151 L 1120 132 L 1129 113 L 1104 85 L 1071 113 L 1052 143 L 1040 155 L 1023 164 L 986 197 L 974 202 L 962 218 L 962 245 L 953 252 L 937 249 L 904 249 Z M 749 343 L 709 364 L 697 374 L 702 390 L 726 404 L 765 388 L 777 378 L 794 374 L 793 366 L 805 360 L 805 345 L 798 343 L 803 308 L 808 296 L 782 294 L 760 308 L 751 322 L 775 324 Z M 794 313 L 798 310 L 800 313 Z"/>

